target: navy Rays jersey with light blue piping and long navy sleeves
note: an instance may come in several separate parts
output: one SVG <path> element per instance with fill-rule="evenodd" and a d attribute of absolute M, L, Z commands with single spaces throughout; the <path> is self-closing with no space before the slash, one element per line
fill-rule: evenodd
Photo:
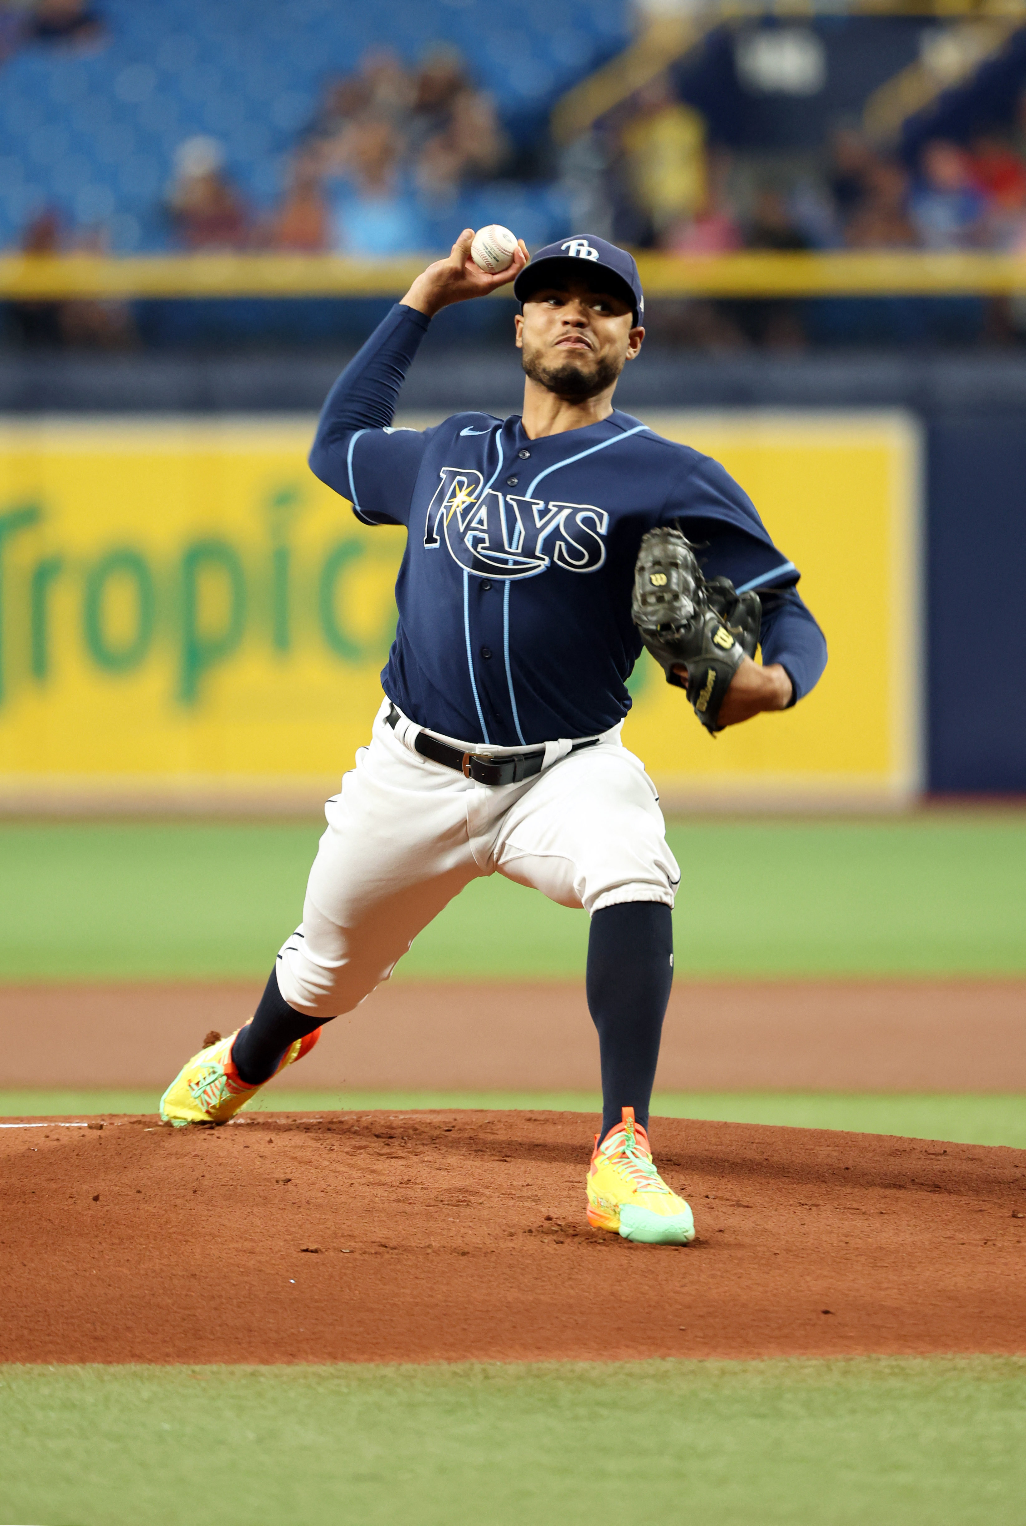
<path fill-rule="evenodd" d="M 309 455 L 367 525 L 404 525 L 386 694 L 418 725 L 494 746 L 588 737 L 630 710 L 640 539 L 678 523 L 706 575 L 764 597 L 764 661 L 794 699 L 826 649 L 797 568 L 709 456 L 630 414 L 531 439 L 518 417 L 392 429 L 428 319 L 396 305 L 332 388 Z M 660 674 L 662 676 L 662 674 Z"/>

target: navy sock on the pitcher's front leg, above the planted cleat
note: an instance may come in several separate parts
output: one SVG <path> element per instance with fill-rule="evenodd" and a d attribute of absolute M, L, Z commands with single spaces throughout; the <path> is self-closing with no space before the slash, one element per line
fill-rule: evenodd
<path fill-rule="evenodd" d="M 657 900 L 627 900 L 592 917 L 587 993 L 599 1030 L 602 1132 L 634 1108 L 648 1128 L 659 1041 L 674 980 L 674 923 Z"/>

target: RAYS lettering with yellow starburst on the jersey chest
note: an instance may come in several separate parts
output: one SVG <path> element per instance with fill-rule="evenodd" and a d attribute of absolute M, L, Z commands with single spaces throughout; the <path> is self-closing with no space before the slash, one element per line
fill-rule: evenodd
<path fill-rule="evenodd" d="M 610 516 L 593 504 L 555 504 L 485 488 L 480 472 L 442 467 L 427 510 L 424 545 L 442 542 L 476 577 L 537 577 L 550 566 L 598 572 Z"/>

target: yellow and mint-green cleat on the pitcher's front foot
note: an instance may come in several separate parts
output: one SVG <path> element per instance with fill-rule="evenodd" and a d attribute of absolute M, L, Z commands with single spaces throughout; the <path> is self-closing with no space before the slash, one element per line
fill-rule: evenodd
<path fill-rule="evenodd" d="M 648 1134 L 624 1108 L 624 1122 L 605 1135 L 588 1167 L 588 1224 L 646 1245 L 688 1245 L 695 1221 L 683 1198 L 652 1164 Z"/>

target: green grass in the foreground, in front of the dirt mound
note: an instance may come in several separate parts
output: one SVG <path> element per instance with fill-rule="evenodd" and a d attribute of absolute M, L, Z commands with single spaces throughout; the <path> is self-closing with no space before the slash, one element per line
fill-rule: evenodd
<path fill-rule="evenodd" d="M 0 1369 L 30 1526 L 1018 1526 L 1026 1360 Z"/>

